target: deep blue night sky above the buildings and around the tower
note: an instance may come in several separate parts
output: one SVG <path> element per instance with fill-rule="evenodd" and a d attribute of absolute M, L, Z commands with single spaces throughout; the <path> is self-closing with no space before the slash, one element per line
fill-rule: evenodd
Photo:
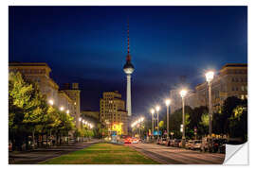
<path fill-rule="evenodd" d="M 46 62 L 59 84 L 79 82 L 82 110 L 119 91 L 127 54 L 133 114 L 163 104 L 181 77 L 191 89 L 207 69 L 247 63 L 246 7 L 9 7 L 9 61 Z"/>

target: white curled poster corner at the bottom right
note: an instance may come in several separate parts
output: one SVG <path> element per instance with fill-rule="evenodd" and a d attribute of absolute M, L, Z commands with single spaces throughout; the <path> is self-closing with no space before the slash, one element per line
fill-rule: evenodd
<path fill-rule="evenodd" d="M 226 144 L 226 155 L 225 161 L 223 164 L 225 165 L 234 165 L 234 164 L 241 164 L 247 165 L 248 164 L 248 157 L 247 157 L 247 143 L 245 144 Z"/>

